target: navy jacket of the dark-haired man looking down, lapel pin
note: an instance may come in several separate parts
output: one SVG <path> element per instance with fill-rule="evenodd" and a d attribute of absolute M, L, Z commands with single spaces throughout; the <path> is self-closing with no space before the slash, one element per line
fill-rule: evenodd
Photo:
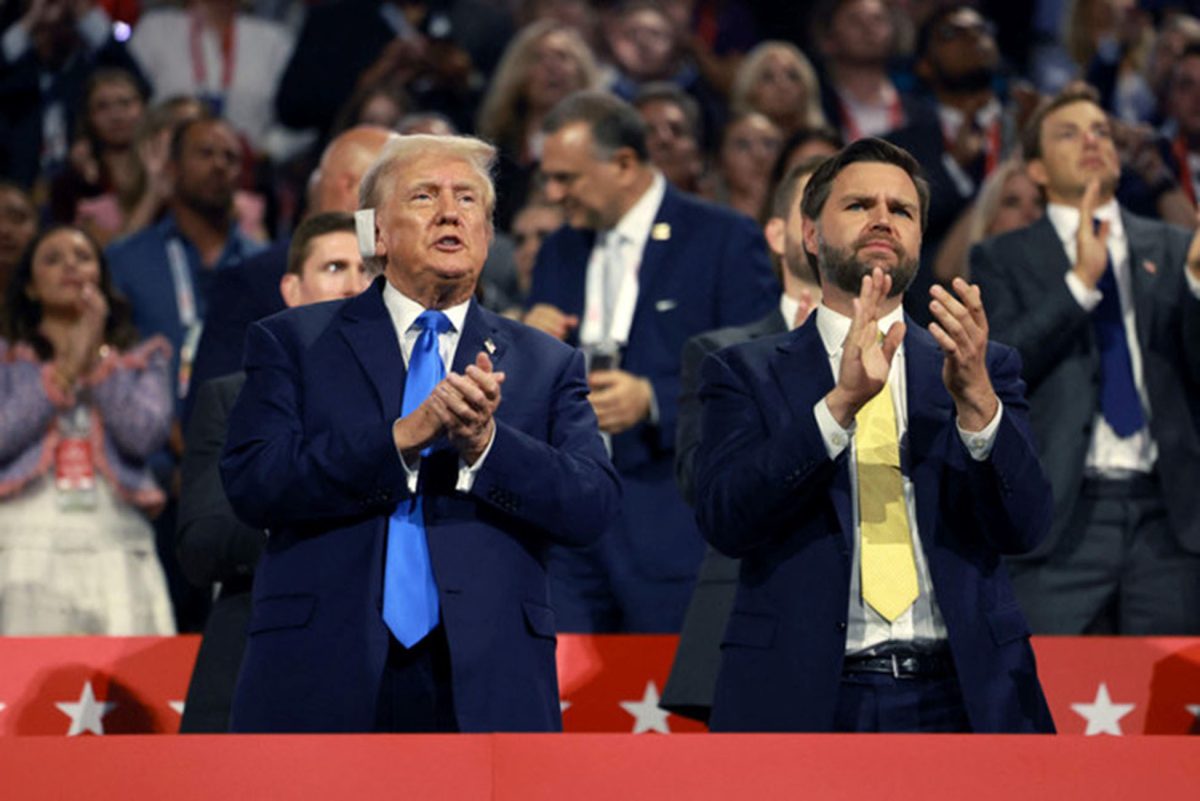
<path fill-rule="evenodd" d="M 625 519 L 635 560 L 647 574 L 692 577 L 703 553 L 691 510 L 673 481 L 679 354 L 689 337 L 757 320 L 779 301 L 762 231 L 749 217 L 667 186 L 655 216 L 666 239 L 646 242 L 637 306 L 622 369 L 654 386 L 658 423 L 642 421 L 612 438 L 625 484 Z M 659 230 L 664 230 L 659 228 Z M 542 242 L 529 305 L 551 303 L 583 317 L 595 233 L 562 228 Z M 568 344 L 577 344 L 577 332 Z"/>

